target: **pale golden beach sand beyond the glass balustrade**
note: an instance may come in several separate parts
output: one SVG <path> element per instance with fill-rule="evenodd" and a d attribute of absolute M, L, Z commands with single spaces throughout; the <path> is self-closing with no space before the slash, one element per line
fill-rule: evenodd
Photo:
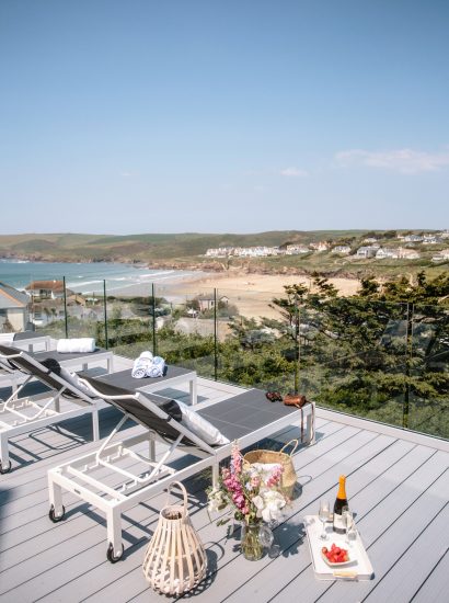
<path fill-rule="evenodd" d="M 360 286 L 356 278 L 330 278 L 342 296 L 354 295 Z M 164 297 L 172 304 L 184 304 L 188 299 L 199 295 L 214 296 L 214 288 L 217 288 L 218 299 L 228 298 L 229 304 L 237 306 L 239 314 L 246 318 L 261 316 L 275 318 L 278 316 L 276 309 L 269 304 L 274 297 L 284 295 L 285 285 L 302 284 L 313 291 L 312 280 L 306 276 L 290 274 L 247 274 L 244 272 L 229 273 L 198 273 L 188 275 L 182 281 L 172 284 L 158 284 L 156 295 Z M 128 287 L 123 295 L 148 295 L 148 287 L 140 291 L 141 286 Z M 115 292 L 117 294 L 117 292 Z"/>

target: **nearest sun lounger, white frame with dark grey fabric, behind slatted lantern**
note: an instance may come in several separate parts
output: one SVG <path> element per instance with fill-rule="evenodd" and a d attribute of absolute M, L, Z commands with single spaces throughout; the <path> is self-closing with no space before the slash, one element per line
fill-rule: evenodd
<path fill-rule="evenodd" d="M 54 522 L 64 519 L 62 489 L 103 511 L 107 525 L 106 557 L 112 562 L 123 555 L 122 513 L 162 491 L 173 479 L 186 479 L 207 467 L 211 467 L 212 482 L 216 485 L 219 463 L 229 457 L 233 440 L 238 440 L 243 448 L 301 421 L 301 412 L 296 407 L 268 403 L 263 391 L 250 389 L 197 412 L 228 439 L 229 443 L 214 446 L 185 426 L 184 421 L 180 422 L 174 418 L 177 405 L 174 400 L 119 388 L 106 383 L 107 378 L 82 376 L 81 382 L 96 396 L 118 408 L 124 416 L 97 451 L 49 469 L 49 517 Z M 314 405 L 308 406 L 303 412 L 307 435 L 311 441 Z M 142 425 L 145 432 L 113 443 L 118 430 L 128 419 Z M 156 441 L 166 444 L 159 460 L 156 458 Z M 145 451 L 149 451 L 146 456 L 140 451 L 143 443 Z M 136 451 L 136 447 L 139 450 Z M 175 451 L 191 453 L 197 460 L 193 459 L 187 466 L 176 469 L 173 466 Z M 143 466 L 143 470 L 130 470 L 128 467 L 131 463 L 135 468 L 138 464 Z M 115 474 L 114 482 L 110 479 L 105 481 L 104 475 L 107 471 L 108 478 L 111 474 Z M 112 483 L 116 485 L 111 486 Z"/>

